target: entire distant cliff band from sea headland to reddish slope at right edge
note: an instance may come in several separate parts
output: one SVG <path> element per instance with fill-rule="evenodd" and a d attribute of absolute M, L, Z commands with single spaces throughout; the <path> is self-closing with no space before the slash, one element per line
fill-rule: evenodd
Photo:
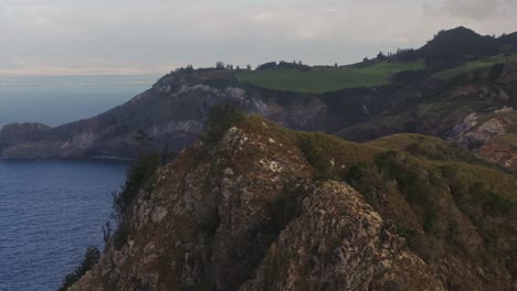
<path fill-rule="evenodd" d="M 156 149 L 196 141 L 210 107 L 232 100 L 285 127 L 354 141 L 414 132 L 464 144 L 479 157 L 517 169 L 517 63 L 497 64 L 450 80 L 424 77 L 391 85 L 303 94 L 240 83 L 231 71 L 175 72 L 128 103 L 55 128 L 9 125 L 0 158 L 133 158 L 138 129 Z"/>

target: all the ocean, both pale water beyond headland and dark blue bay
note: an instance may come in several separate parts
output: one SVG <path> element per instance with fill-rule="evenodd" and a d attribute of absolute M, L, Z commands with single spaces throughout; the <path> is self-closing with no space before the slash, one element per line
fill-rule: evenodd
<path fill-rule="evenodd" d="M 98 115 L 151 86 L 149 76 L 1 77 L 0 127 L 57 126 Z M 102 249 L 127 161 L 0 160 L 0 290 L 56 290 L 88 246 Z"/>

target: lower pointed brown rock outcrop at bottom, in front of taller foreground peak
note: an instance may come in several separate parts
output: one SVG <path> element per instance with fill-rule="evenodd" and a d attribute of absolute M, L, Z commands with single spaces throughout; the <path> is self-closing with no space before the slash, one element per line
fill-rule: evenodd
<path fill-rule="evenodd" d="M 445 290 L 345 183 L 324 183 L 241 290 Z"/>

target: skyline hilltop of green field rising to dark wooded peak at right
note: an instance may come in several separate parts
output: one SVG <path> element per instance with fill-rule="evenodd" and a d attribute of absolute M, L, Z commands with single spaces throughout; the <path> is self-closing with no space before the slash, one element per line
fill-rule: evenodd
<path fill-rule="evenodd" d="M 515 33 L 495 39 L 460 26 L 440 31 L 420 48 L 379 54 L 376 58 L 350 66 L 303 66 L 296 69 L 284 68 L 281 62 L 276 66 L 270 63 L 266 69 L 238 71 L 234 74 L 240 82 L 261 87 L 314 94 L 388 85 L 403 72 L 446 79 L 476 68 L 517 61 L 517 42 L 514 39 Z"/>

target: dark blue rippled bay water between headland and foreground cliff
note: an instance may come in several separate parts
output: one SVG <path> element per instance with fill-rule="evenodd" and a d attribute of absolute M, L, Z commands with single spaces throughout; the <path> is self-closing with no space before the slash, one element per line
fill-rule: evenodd
<path fill-rule="evenodd" d="M 0 160 L 0 290 L 56 290 L 103 246 L 128 162 Z"/>

